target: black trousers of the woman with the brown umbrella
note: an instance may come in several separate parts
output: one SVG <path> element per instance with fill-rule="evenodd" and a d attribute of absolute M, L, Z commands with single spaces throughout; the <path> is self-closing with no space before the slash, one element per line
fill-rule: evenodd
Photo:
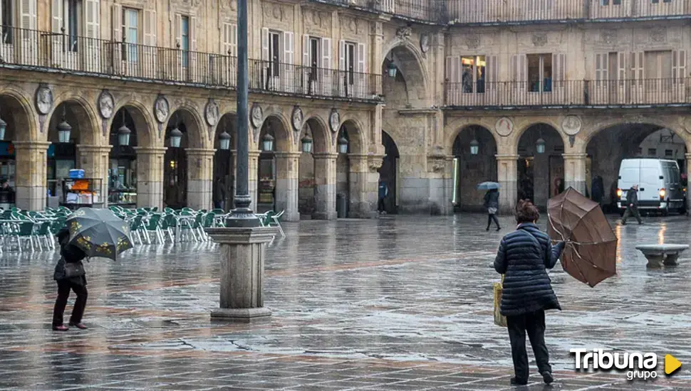
<path fill-rule="evenodd" d="M 509 326 L 509 341 L 511 341 L 511 358 L 514 360 L 516 379 L 528 380 L 528 353 L 526 352 L 526 332 L 533 347 L 535 361 L 540 373 L 551 372 L 549 352 L 545 345 L 545 311 L 535 311 L 529 314 L 506 316 Z"/>

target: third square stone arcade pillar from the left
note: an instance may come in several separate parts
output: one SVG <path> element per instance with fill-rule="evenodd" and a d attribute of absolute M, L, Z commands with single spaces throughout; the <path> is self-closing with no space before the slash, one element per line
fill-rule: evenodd
<path fill-rule="evenodd" d="M 165 148 L 135 146 L 137 151 L 137 208 L 163 209 Z"/>

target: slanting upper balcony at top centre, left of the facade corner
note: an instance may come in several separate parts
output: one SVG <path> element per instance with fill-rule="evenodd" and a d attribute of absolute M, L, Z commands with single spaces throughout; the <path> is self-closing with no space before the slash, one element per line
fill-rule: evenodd
<path fill-rule="evenodd" d="M 311 0 L 422 23 L 446 24 L 447 0 Z"/>

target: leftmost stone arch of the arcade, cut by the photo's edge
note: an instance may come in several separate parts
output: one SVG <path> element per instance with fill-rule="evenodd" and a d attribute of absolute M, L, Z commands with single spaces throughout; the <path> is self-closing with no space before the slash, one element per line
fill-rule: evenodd
<path fill-rule="evenodd" d="M 42 141 L 43 135 L 38 134 L 38 122 L 34 119 L 38 115 L 31 105 L 31 99 L 24 92 L 14 87 L 0 89 L 0 112 L 2 119 L 7 122 L 5 139 L 12 141 Z M 11 112 L 11 116 L 6 114 Z M 28 132 L 17 134 L 14 129 L 28 129 Z"/>

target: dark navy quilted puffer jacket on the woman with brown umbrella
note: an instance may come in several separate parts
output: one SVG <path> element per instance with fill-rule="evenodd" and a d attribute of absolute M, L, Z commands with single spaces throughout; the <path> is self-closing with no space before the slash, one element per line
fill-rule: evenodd
<path fill-rule="evenodd" d="M 516 316 L 541 309 L 561 310 L 546 269 L 554 267 L 563 247 L 564 242 L 552 246 L 549 236 L 531 223 L 519 225 L 502 238 L 494 259 L 494 269 L 505 274 L 499 309 L 502 315 Z"/>

